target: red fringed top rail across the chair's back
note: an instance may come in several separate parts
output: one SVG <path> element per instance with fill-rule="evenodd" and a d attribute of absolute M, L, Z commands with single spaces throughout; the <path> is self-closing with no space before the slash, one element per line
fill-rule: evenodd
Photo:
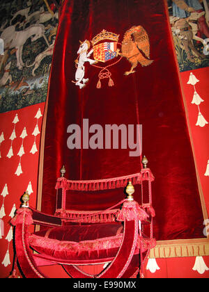
<path fill-rule="evenodd" d="M 127 175 L 124 177 L 114 177 L 111 179 L 97 179 L 86 181 L 72 181 L 59 177 L 56 181 L 55 188 L 64 188 L 65 190 L 108 190 L 114 188 L 125 188 L 128 181 L 132 181 L 132 184 L 141 184 L 141 181 L 148 180 L 153 181 L 155 178 L 148 168 L 141 170 L 134 175 Z"/>

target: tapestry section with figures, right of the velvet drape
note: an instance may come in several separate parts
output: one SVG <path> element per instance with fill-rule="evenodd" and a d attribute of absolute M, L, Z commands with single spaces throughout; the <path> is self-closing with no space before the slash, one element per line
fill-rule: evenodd
<path fill-rule="evenodd" d="M 209 66 L 209 0 L 167 0 L 180 72 Z"/>

